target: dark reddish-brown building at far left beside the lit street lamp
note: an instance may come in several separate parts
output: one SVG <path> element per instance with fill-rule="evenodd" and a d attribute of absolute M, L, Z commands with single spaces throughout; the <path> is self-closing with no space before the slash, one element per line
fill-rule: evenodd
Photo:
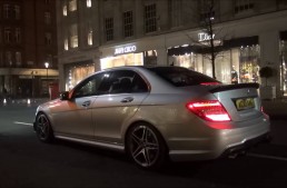
<path fill-rule="evenodd" d="M 56 0 L 0 1 L 0 97 L 48 96 L 59 75 L 56 26 Z"/>

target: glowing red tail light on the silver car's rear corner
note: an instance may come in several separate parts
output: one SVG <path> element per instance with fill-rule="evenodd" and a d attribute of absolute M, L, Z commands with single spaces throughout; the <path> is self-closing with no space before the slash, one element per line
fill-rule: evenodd
<path fill-rule="evenodd" d="M 208 121 L 230 121 L 228 112 L 218 100 L 189 102 L 187 108 Z"/>

